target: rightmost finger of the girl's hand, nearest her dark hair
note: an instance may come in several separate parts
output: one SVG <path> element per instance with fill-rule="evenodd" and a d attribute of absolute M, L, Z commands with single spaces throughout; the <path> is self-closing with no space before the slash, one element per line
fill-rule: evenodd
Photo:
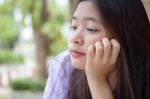
<path fill-rule="evenodd" d="M 111 40 L 111 44 L 112 44 L 112 54 L 111 54 L 111 62 L 113 64 L 116 63 L 117 61 L 117 57 L 119 55 L 119 52 L 120 52 L 120 44 L 117 40 L 115 39 L 112 39 Z"/>

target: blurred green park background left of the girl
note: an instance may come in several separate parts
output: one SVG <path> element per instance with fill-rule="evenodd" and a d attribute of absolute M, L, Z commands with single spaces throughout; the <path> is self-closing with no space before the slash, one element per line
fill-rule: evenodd
<path fill-rule="evenodd" d="M 0 0 L 0 99 L 42 99 L 77 0 Z"/>

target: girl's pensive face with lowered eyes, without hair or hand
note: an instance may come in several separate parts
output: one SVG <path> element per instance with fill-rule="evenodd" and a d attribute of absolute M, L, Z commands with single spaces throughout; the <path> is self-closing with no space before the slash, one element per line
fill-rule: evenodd
<path fill-rule="evenodd" d="M 72 18 L 71 29 L 72 34 L 68 40 L 71 62 L 75 68 L 84 69 L 88 46 L 108 37 L 99 11 L 91 1 L 79 3 Z"/>

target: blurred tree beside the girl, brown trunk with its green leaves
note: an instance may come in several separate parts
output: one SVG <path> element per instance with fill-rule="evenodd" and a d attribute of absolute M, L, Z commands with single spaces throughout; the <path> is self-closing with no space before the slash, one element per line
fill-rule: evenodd
<path fill-rule="evenodd" d="M 64 45 L 65 41 L 60 33 L 60 27 L 66 17 L 64 11 L 57 11 L 55 0 L 18 0 L 21 12 L 32 16 L 32 27 L 36 45 L 37 78 L 47 77 L 46 59 L 53 49 L 63 46 L 52 46 L 56 43 Z M 53 48 L 54 47 L 54 48 Z"/>

